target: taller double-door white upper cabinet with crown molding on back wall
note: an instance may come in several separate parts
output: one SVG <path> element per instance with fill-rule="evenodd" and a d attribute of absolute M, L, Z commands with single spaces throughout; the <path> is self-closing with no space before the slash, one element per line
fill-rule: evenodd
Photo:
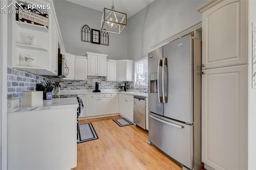
<path fill-rule="evenodd" d="M 88 57 L 88 75 L 107 76 L 106 54 L 86 52 Z"/>

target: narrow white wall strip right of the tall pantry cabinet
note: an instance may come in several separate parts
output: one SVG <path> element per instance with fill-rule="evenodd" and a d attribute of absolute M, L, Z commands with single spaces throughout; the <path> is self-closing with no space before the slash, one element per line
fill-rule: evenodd
<path fill-rule="evenodd" d="M 249 38 L 248 38 L 248 59 L 249 59 L 249 106 L 248 106 L 248 169 L 256 170 L 256 89 L 252 89 L 252 23 L 256 25 L 256 1 L 249 2 Z"/>

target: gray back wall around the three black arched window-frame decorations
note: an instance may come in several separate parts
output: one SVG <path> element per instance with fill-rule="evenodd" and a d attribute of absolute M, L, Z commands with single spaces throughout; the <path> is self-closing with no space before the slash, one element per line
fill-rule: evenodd
<path fill-rule="evenodd" d="M 54 5 L 67 53 L 84 55 L 88 51 L 108 54 L 107 59 L 127 59 L 127 28 L 120 35 L 109 33 L 109 46 L 82 42 L 82 26 L 100 30 L 102 12 L 64 0 L 56 0 Z"/>

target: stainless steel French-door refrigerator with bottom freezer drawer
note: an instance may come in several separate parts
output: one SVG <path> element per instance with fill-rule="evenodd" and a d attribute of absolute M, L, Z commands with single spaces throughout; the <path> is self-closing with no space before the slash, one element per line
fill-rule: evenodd
<path fill-rule="evenodd" d="M 201 41 L 188 35 L 148 53 L 149 144 L 183 169 L 201 162 Z"/>

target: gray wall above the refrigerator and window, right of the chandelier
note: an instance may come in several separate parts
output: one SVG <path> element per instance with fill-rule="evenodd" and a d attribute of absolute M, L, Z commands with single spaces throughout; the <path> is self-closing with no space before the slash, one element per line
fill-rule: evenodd
<path fill-rule="evenodd" d="M 148 55 L 148 47 L 202 20 L 196 8 L 208 0 L 156 0 L 128 19 L 128 59 Z"/>

